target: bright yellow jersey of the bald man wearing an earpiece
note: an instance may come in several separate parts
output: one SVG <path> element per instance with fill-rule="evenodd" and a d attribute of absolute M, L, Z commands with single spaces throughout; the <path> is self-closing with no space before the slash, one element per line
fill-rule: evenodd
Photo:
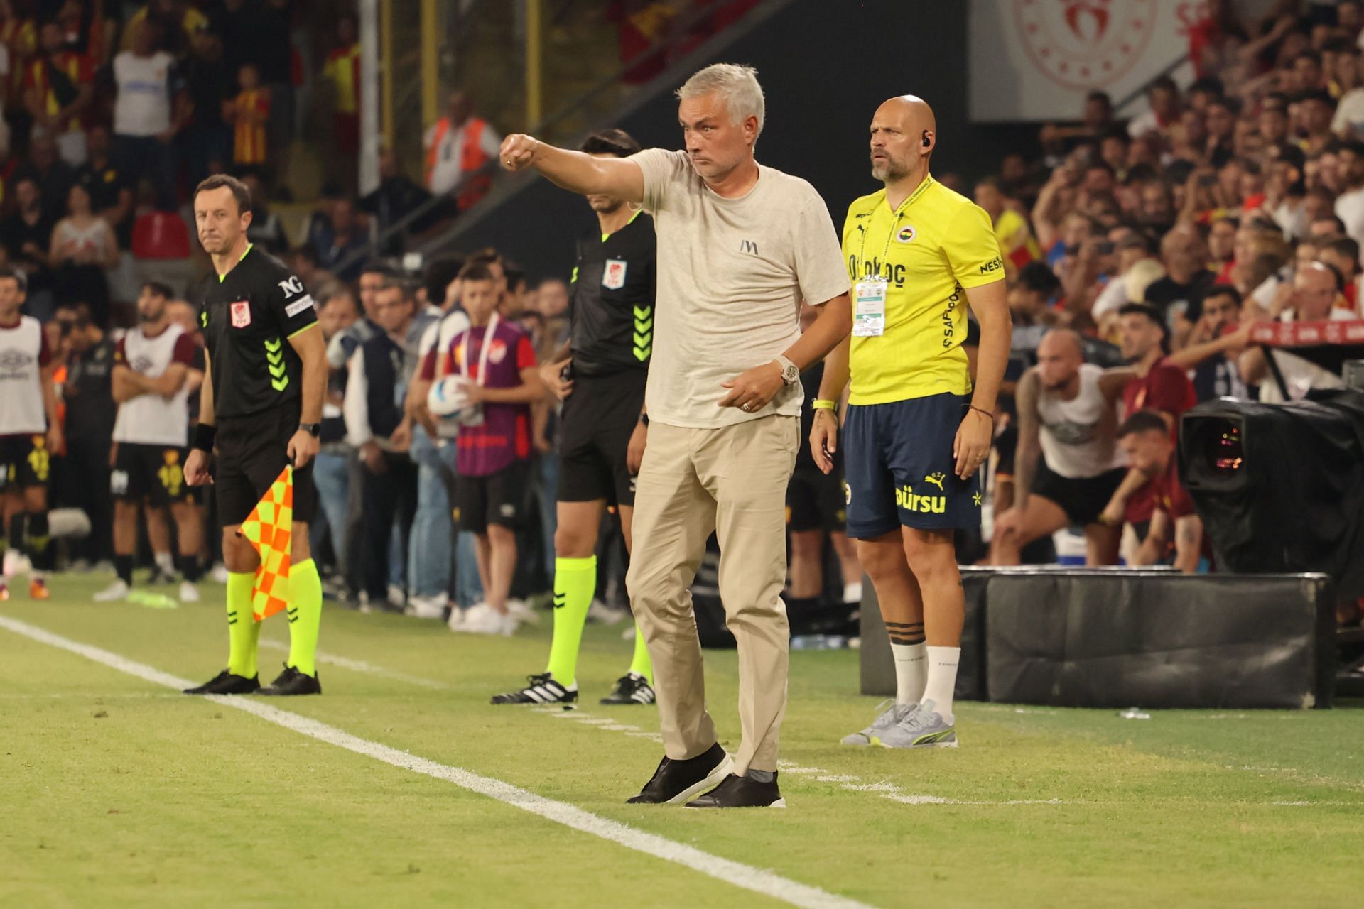
<path fill-rule="evenodd" d="M 966 288 L 1004 279 L 990 215 L 932 176 L 892 211 L 885 189 L 848 206 L 843 256 L 854 282 L 880 275 L 885 334 L 853 338 L 848 403 L 970 394 Z"/>

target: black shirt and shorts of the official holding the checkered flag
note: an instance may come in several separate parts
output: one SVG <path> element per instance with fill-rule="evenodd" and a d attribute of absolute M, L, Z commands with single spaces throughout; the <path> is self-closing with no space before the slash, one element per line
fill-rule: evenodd
<path fill-rule="evenodd" d="M 254 247 L 228 274 L 210 275 L 199 298 L 217 424 L 213 482 L 218 522 L 229 527 L 247 519 L 289 463 L 303 416 L 303 361 L 289 338 L 318 312 L 303 282 Z M 310 523 L 316 506 L 310 462 L 293 472 L 293 519 Z"/>

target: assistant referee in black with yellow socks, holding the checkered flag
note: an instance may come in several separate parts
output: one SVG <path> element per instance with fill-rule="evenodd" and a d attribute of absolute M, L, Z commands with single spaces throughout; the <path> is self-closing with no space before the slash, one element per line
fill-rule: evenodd
<path fill-rule="evenodd" d="M 196 292 L 207 368 L 184 478 L 191 487 L 213 484 L 217 489 L 228 567 L 229 650 L 228 668 L 186 694 L 322 694 L 316 671 L 322 581 L 308 551 L 308 522 L 318 503 L 312 458 L 327 379 L 316 305 L 297 275 L 247 243 L 251 194 L 240 180 L 216 174 L 201 183 L 194 192 L 194 219 L 216 274 Z M 214 447 L 218 463 L 210 474 Z M 280 677 L 261 688 L 261 624 L 251 608 L 261 560 L 237 531 L 289 463 L 289 658 Z"/>

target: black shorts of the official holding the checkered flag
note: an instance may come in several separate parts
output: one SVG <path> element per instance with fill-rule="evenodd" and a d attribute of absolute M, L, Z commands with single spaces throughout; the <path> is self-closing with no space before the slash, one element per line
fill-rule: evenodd
<path fill-rule="evenodd" d="M 213 488 L 218 496 L 218 523 L 224 527 L 247 519 L 261 497 L 289 463 L 289 439 L 299 431 L 299 402 L 254 413 L 221 417 L 217 435 L 217 470 Z M 312 462 L 293 472 L 293 519 L 311 523 L 318 510 Z"/>

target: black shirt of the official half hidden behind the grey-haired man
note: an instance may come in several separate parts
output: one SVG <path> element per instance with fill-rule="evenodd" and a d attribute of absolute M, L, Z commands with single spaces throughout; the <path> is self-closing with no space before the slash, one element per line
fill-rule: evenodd
<path fill-rule="evenodd" d="M 569 298 L 574 375 L 648 369 L 656 258 L 653 218 L 642 211 L 606 240 L 600 230 L 578 237 Z"/>

